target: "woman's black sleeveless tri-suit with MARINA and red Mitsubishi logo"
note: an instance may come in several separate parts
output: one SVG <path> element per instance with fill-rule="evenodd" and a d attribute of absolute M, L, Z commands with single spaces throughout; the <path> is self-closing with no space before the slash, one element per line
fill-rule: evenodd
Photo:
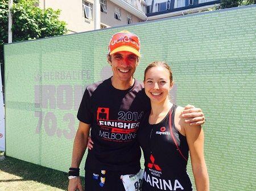
<path fill-rule="evenodd" d="M 145 172 L 142 191 L 191 191 L 187 173 L 188 143 L 174 125 L 177 105 L 158 124 L 148 123 L 149 113 L 142 120 L 137 138 L 144 154 Z"/>

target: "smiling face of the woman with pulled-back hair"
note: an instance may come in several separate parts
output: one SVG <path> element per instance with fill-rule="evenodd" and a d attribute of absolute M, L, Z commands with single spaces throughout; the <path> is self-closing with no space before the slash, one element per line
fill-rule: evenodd
<path fill-rule="evenodd" d="M 162 66 L 151 67 L 146 73 L 144 87 L 151 103 L 162 103 L 168 99 L 172 87 L 169 71 Z"/>

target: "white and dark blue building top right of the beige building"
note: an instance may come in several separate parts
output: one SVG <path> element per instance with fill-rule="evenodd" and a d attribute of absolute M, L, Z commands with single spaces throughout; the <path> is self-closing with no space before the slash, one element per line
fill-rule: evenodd
<path fill-rule="evenodd" d="M 206 11 L 220 5 L 220 0 L 146 0 L 147 20 Z"/>

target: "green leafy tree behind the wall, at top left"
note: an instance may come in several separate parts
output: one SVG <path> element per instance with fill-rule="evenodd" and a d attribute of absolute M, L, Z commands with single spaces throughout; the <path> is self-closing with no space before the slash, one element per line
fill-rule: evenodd
<path fill-rule="evenodd" d="M 40 39 L 67 33 L 66 23 L 59 20 L 60 10 L 42 10 L 38 0 L 14 0 L 13 42 Z M 3 70 L 3 44 L 8 42 L 8 0 L 0 1 L 0 62 Z M 2 73 L 3 78 L 3 73 Z"/>

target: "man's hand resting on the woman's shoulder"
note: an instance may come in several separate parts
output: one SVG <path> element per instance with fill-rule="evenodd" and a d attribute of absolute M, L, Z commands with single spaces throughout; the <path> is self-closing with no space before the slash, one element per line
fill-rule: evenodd
<path fill-rule="evenodd" d="M 185 122 L 189 125 L 203 125 L 205 122 L 202 110 L 195 108 L 193 105 L 187 105 L 183 112 L 181 112 L 181 117 L 185 118 Z"/>

